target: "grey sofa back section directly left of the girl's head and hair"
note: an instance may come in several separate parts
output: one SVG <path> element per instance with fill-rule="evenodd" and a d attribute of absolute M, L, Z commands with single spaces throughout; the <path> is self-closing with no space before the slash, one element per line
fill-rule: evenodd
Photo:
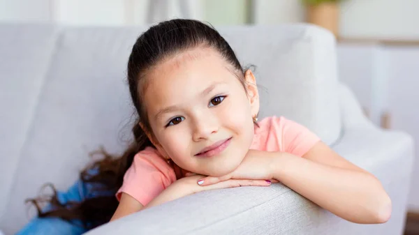
<path fill-rule="evenodd" d="M 126 62 L 140 32 L 138 28 L 61 31 L 22 149 L 14 197 L 1 222 L 6 232 L 13 234 L 28 221 L 24 199 L 38 195 L 44 183 L 65 190 L 91 160 L 90 151 L 103 145 L 110 153 L 121 153 L 128 145 L 134 109 Z"/>

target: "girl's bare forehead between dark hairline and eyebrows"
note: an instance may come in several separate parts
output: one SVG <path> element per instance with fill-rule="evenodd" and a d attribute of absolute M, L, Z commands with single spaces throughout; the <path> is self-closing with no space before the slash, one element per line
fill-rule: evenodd
<path fill-rule="evenodd" d="M 197 48 L 163 61 L 147 76 L 147 112 L 198 100 L 213 84 L 235 84 L 230 65 L 215 50 Z"/>

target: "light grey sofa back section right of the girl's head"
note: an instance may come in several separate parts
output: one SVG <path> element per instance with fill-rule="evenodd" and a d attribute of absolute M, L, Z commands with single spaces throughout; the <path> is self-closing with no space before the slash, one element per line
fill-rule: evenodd
<path fill-rule="evenodd" d="M 307 24 L 221 28 L 243 66 L 256 66 L 260 116 L 286 116 L 323 142 L 340 134 L 335 37 Z"/>

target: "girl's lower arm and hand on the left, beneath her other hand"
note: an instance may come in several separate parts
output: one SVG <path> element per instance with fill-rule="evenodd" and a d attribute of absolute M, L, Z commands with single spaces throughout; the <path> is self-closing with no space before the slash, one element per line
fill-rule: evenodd
<path fill-rule="evenodd" d="M 221 189 L 221 188 L 235 188 L 241 186 L 269 186 L 270 182 L 265 180 L 247 180 L 247 179 L 230 179 L 228 181 L 223 181 L 219 183 L 214 183 L 213 185 L 208 185 L 206 187 L 201 187 L 196 184 L 198 179 L 203 178 L 202 175 L 195 175 L 184 177 L 172 183 L 166 190 L 163 190 L 159 196 L 155 197 L 151 202 L 146 206 L 142 206 L 137 199 L 131 197 L 130 195 L 122 192 L 121 199 L 119 201 L 119 206 L 115 211 L 115 214 L 112 216 L 110 221 L 117 220 L 126 215 L 141 211 L 142 209 L 147 209 L 152 206 L 157 206 L 165 202 L 170 202 L 172 200 L 192 195 L 196 192 L 202 192 L 206 190 Z"/>

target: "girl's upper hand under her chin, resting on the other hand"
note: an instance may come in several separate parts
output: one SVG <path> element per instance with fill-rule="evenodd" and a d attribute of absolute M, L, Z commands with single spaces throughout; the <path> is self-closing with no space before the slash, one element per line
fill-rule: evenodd
<path fill-rule="evenodd" d="M 205 178 L 200 178 L 197 181 L 198 185 L 207 187 L 207 185 L 228 181 L 230 179 L 270 180 L 272 183 L 277 183 L 278 181 L 272 179 L 272 168 L 275 156 L 266 154 L 267 152 L 264 152 L 265 154 L 258 154 L 260 152 L 262 151 L 249 150 L 242 163 L 240 163 L 239 167 L 237 167 L 234 172 L 220 177 L 207 176 Z"/>

